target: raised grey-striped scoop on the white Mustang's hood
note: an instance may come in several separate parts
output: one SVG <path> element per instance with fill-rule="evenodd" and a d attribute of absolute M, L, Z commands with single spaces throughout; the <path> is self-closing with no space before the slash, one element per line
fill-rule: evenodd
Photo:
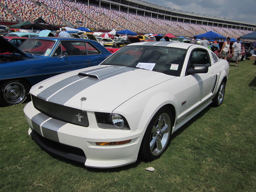
<path fill-rule="evenodd" d="M 104 67 L 104 68 L 98 68 L 98 69 L 80 72 L 78 76 L 88 76 L 88 77 L 97 78 L 98 80 L 101 80 L 125 71 L 126 71 L 125 69 L 117 68 L 117 67 Z"/>

